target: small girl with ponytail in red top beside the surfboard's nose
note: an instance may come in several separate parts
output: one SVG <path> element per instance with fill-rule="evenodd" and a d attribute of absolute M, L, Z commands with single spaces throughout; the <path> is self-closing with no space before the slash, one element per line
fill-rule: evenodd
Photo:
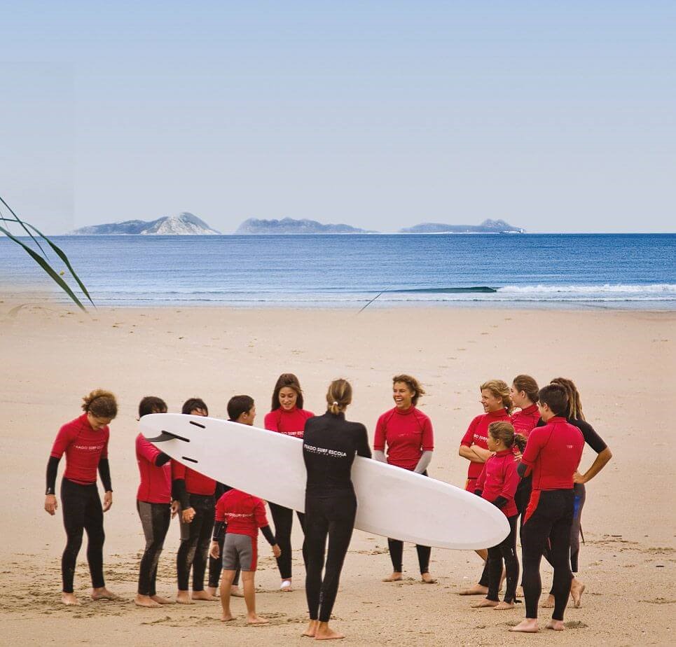
<path fill-rule="evenodd" d="M 518 463 L 512 449 L 513 445 L 518 445 L 519 450 L 523 451 L 526 440 L 523 436 L 514 433 L 514 428 L 509 422 L 492 422 L 488 426 L 488 449 L 495 453 L 485 462 L 483 471 L 476 481 L 474 494 L 478 494 L 502 510 L 509 521 L 509 535 L 498 545 L 488 549 L 488 594 L 481 602 L 473 604 L 474 608 L 492 606 L 497 611 L 514 608 L 519 572 L 518 557 L 516 557 L 518 510 L 514 503 L 514 494 L 516 494 L 519 475 L 516 471 Z M 507 588 L 504 601 L 501 602 L 498 599 L 498 591 L 503 559 Z"/>

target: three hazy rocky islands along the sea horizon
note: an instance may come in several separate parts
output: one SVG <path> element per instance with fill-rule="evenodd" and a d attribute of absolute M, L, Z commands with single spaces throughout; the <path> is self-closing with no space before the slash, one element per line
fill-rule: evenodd
<path fill-rule="evenodd" d="M 294 235 L 294 234 L 378 234 L 380 232 L 360 229 L 345 224 L 320 223 L 306 218 L 282 218 L 281 220 L 263 220 L 248 218 L 235 230 L 235 235 Z M 481 225 L 448 225 L 445 223 L 420 223 L 413 227 L 400 229 L 401 234 L 523 234 L 525 230 L 514 227 L 504 220 L 487 219 Z M 99 235 L 165 235 L 165 236 L 203 236 L 220 235 L 194 214 L 184 211 L 177 216 L 163 216 L 153 221 L 127 220 L 119 223 L 90 225 L 68 232 L 74 236 Z"/>

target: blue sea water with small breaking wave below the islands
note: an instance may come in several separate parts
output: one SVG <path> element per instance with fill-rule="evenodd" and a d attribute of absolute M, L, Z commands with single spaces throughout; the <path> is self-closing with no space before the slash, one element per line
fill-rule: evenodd
<path fill-rule="evenodd" d="M 22 239 L 26 240 L 26 239 Z M 96 305 L 676 309 L 675 234 L 54 237 Z M 55 267 L 62 263 L 50 255 Z M 63 268 L 62 268 L 63 269 Z M 0 280 L 51 288 L 0 237 Z M 71 284 L 73 282 L 71 281 Z"/>

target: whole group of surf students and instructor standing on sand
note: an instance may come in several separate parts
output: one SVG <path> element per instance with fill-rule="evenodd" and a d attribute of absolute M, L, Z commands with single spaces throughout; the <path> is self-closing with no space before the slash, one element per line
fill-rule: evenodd
<path fill-rule="evenodd" d="M 461 594 L 482 595 L 483 599 L 473 605 L 479 608 L 514 607 L 520 570 L 516 550 L 518 530 L 526 618 L 511 630 L 538 630 L 537 607 L 542 590 L 539 567 L 543 556 L 552 564 L 554 576 L 550 596 L 541 606 L 553 607 L 547 626 L 563 629 L 569 597 L 572 595 L 574 604 L 579 606 L 584 592 L 584 584 L 572 574 L 578 569 L 584 483 L 605 466 L 612 454 L 585 421 L 579 393 L 570 380 L 556 378 L 539 389 L 532 377 L 518 375 L 511 387 L 502 380 L 489 380 L 481 384 L 480 391 L 484 412 L 471 421 L 460 441 L 460 457 L 469 461 L 465 489 L 502 510 L 510 531 L 499 545 L 477 551 L 484 561 L 481 578 Z M 303 408 L 303 390 L 295 375 L 284 373 L 275 384 L 270 412 L 265 415 L 265 429 L 298 438 L 307 470 L 305 513 L 297 513 L 305 537 L 303 562 L 309 613 L 305 636 L 343 637 L 329 627 L 329 619 L 357 513 L 358 501 L 350 478 L 354 457 L 373 457 L 427 475 L 434 452 L 434 431 L 429 417 L 418 408 L 423 395 L 425 390 L 415 377 L 393 377 L 394 407 L 378 418 L 372 455 L 366 427 L 345 419 L 345 410 L 352 402 L 349 382 L 331 382 L 326 393 L 326 412 L 319 416 Z M 109 391 L 92 391 L 83 398 L 82 409 L 83 415 L 60 429 L 47 466 L 45 509 L 54 515 L 57 469 L 66 454 L 61 485 L 67 534 L 62 556 L 64 604 L 78 604 L 73 583 L 83 531 L 88 534 L 92 598 L 117 597 L 106 589 L 102 557 L 103 513 L 113 503 L 107 450 L 109 424 L 117 415 L 116 398 Z M 139 417 L 165 412 L 166 403 L 156 396 L 145 397 L 139 403 Z M 181 412 L 209 415 L 200 398 L 188 399 Z M 244 395 L 230 398 L 228 417 L 240 424 L 254 424 L 254 399 Z M 584 443 L 598 456 L 581 474 L 578 467 Z M 247 622 L 268 622 L 256 614 L 255 606 L 258 531 L 277 559 L 280 590 L 290 592 L 294 511 L 268 502 L 273 531 L 261 499 L 172 461 L 141 434 L 136 439 L 136 454 L 141 477 L 137 510 L 146 538 L 136 604 L 157 608 L 174 603 L 158 595 L 156 579 L 170 521 L 178 515 L 181 541 L 176 559 L 175 601 L 194 604 L 195 600 L 220 597 L 222 620 L 228 621 L 233 618 L 230 597 L 244 597 Z M 97 489 L 97 472 L 104 487 L 103 502 Z M 394 582 L 403 577 L 403 542 L 388 538 L 388 545 L 392 574 L 384 581 Z M 416 550 L 421 581 L 434 584 L 436 580 L 429 573 L 431 549 L 418 545 Z M 503 579 L 506 587 L 501 601 Z"/>

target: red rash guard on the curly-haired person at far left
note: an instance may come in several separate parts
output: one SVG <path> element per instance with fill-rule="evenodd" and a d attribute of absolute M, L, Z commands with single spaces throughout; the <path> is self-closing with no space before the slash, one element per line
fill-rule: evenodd
<path fill-rule="evenodd" d="M 80 485 L 96 482 L 101 459 L 108 458 L 108 426 L 94 431 L 87 414 L 64 424 L 57 433 L 50 456 L 60 459 L 66 452 L 64 478 Z"/>

